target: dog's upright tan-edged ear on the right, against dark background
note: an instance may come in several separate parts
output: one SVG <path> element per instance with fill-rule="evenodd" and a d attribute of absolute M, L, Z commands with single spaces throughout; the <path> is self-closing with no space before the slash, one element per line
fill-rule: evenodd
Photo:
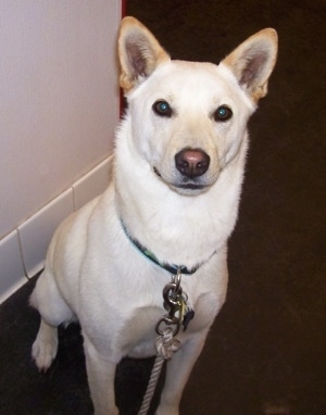
<path fill-rule="evenodd" d="M 267 93 L 268 77 L 277 56 L 277 33 L 263 29 L 251 36 L 223 61 L 254 102 Z"/>

